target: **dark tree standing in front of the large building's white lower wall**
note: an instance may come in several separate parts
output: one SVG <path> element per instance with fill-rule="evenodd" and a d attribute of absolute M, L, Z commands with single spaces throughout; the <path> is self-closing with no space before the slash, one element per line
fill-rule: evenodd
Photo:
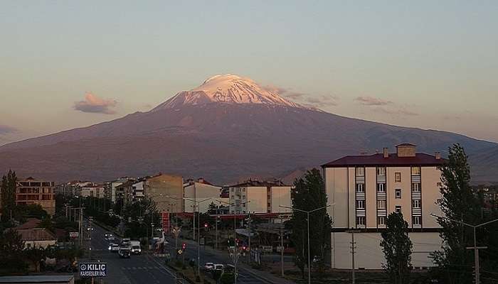
<path fill-rule="evenodd" d="M 412 242 L 408 236 L 408 223 L 403 214 L 392 212 L 386 220 L 386 231 L 381 232 L 381 247 L 386 256 L 382 266 L 391 283 L 406 284 L 410 279 Z"/>

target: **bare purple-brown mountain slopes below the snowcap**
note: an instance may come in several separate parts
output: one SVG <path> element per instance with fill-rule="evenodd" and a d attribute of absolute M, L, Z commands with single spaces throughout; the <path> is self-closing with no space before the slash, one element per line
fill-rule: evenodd
<path fill-rule="evenodd" d="M 188 91 L 203 92 L 205 97 L 183 102 L 174 97 L 146 113 L 2 146 L 0 170 L 13 168 L 19 175 L 58 181 L 163 172 L 224 183 L 249 176 L 281 176 L 360 151 L 373 153 L 383 147 L 394 151 L 393 146 L 402 142 L 443 155 L 447 146 L 461 143 L 479 169 L 474 177 L 498 180 L 496 143 L 349 119 L 289 105 L 285 99 L 271 101 L 271 94 L 259 91 L 253 95 L 260 102 L 218 101 L 222 97 L 218 93 L 235 93 L 227 92 L 233 84 L 226 80 L 216 86 L 215 92 L 206 86 Z M 239 98 L 258 88 L 250 87 Z"/>

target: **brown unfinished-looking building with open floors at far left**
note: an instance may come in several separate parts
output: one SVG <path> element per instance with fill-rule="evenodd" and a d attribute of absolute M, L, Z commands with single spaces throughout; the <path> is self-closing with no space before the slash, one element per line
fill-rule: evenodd
<path fill-rule="evenodd" d="M 46 180 L 18 180 L 16 204 L 40 204 L 48 214 L 55 214 L 55 184 Z"/>

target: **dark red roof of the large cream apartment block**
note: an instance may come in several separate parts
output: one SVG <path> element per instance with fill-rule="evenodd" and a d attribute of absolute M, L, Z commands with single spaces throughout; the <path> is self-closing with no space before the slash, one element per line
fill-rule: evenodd
<path fill-rule="evenodd" d="M 434 155 L 425 153 L 416 153 L 414 157 L 398 157 L 396 153 L 389 154 L 384 158 L 383 153 L 373 155 L 346 155 L 343 158 L 333 160 L 332 162 L 322 165 L 322 168 L 344 168 L 356 166 L 437 166 L 443 165 L 445 159 L 436 159 Z"/>

